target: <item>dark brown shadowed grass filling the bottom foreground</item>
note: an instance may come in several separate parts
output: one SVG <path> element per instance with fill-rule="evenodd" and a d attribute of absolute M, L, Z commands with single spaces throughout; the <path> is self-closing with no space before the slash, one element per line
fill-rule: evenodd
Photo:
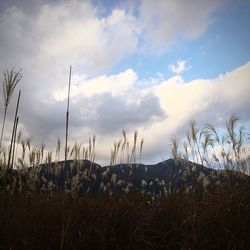
<path fill-rule="evenodd" d="M 202 199 L 0 194 L 1 249 L 250 249 L 250 185 Z"/>

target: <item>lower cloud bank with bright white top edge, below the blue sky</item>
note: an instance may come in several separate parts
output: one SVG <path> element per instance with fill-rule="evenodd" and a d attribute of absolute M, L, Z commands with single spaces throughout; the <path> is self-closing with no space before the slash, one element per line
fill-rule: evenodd
<path fill-rule="evenodd" d="M 249 122 L 249 72 L 250 62 L 216 79 L 183 84 L 183 79 L 175 76 L 143 91 L 135 88 L 137 74 L 131 69 L 116 75 L 83 78 L 82 82 L 73 77 L 78 80 L 78 89 L 70 104 L 70 142 L 87 143 L 88 136 L 96 134 L 97 161 L 107 163 L 113 142 L 122 137 L 122 129 L 126 129 L 131 143 L 137 129 L 145 140 L 144 161 L 160 161 L 169 157 L 170 138 L 182 136 L 191 119 L 221 126 L 236 113 L 243 123 Z M 99 90 L 102 84 L 104 87 Z M 34 143 L 45 141 L 52 146 L 57 137 L 63 139 L 66 100 L 64 95 L 61 97 L 61 101 L 43 103 L 32 99 L 32 104 L 22 100 L 21 126 L 33 136 Z"/>

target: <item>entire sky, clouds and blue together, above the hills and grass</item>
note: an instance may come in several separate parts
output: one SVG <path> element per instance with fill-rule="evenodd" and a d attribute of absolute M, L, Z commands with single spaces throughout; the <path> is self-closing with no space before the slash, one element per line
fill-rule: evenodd
<path fill-rule="evenodd" d="M 144 139 L 144 163 L 169 158 L 190 120 L 221 128 L 235 113 L 249 131 L 249 13 L 248 0 L 0 0 L 0 72 L 23 75 L 4 145 L 19 89 L 23 135 L 64 143 L 70 65 L 69 143 L 95 135 L 100 164 L 123 130 Z"/>

